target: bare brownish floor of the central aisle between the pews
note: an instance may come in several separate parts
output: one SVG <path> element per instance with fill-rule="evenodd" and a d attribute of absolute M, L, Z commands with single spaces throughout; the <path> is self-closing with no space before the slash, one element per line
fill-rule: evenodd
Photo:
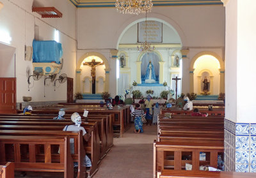
<path fill-rule="evenodd" d="M 153 142 L 157 127 L 144 126 L 144 133 L 134 133 L 133 125 L 100 162 L 93 178 L 150 178 L 153 175 Z"/>

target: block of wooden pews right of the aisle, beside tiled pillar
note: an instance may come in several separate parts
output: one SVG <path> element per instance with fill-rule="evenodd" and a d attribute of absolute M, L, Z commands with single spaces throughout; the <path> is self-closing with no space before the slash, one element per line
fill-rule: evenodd
<path fill-rule="evenodd" d="M 154 142 L 153 175 L 171 177 L 250 177 L 256 174 L 207 172 L 200 166 L 218 167 L 218 156 L 224 154 L 224 118 L 160 114 L 158 135 Z M 200 158 L 200 153 L 205 158 Z M 186 163 L 192 170 L 185 170 Z"/>

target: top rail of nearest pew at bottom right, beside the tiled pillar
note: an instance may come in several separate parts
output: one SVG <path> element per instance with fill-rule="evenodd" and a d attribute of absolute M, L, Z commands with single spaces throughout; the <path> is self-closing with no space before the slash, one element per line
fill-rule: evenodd
<path fill-rule="evenodd" d="M 157 170 L 157 178 L 251 178 L 256 177 L 255 173 L 251 172 L 225 172 L 225 171 L 202 171 L 202 170 Z"/>

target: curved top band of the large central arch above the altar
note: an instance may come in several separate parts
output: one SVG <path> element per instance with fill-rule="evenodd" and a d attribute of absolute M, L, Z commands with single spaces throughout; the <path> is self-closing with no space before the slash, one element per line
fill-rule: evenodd
<path fill-rule="evenodd" d="M 127 29 L 129 29 L 134 24 L 137 24 L 138 22 L 142 22 L 144 20 L 145 20 L 145 18 L 134 16 L 134 17 L 131 17 L 130 19 L 126 20 L 125 23 L 118 28 L 118 30 L 115 32 L 116 36 L 113 39 L 113 41 L 116 41 L 116 49 L 118 49 L 120 40 L 122 39 L 122 36 L 127 31 Z M 174 20 L 172 20 L 164 15 L 158 14 L 158 13 L 148 13 L 147 20 L 156 20 L 159 22 L 163 22 L 163 24 L 172 28 L 173 31 L 175 31 L 175 33 L 177 33 L 177 35 L 179 35 L 181 45 L 186 46 L 187 40 L 186 40 L 185 33 L 184 33 L 184 31 L 182 31 L 182 29 L 180 28 L 179 24 L 177 24 L 177 22 L 175 22 Z"/>

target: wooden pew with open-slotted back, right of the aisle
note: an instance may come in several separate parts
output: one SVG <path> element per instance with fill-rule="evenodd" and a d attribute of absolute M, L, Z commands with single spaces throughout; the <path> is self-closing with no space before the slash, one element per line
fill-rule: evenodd
<path fill-rule="evenodd" d="M 175 140 L 177 141 L 177 140 Z M 223 154 L 224 143 L 220 142 L 200 142 L 200 140 L 193 140 L 193 142 L 154 142 L 154 174 L 158 167 L 164 169 L 164 165 L 171 166 L 174 170 L 181 170 L 185 163 L 192 165 L 193 170 L 199 170 L 200 164 L 209 164 L 211 167 L 217 167 L 218 153 Z M 191 152 L 191 160 L 182 160 L 182 152 Z M 200 161 L 200 152 L 209 152 L 209 160 Z M 173 154 L 173 160 L 168 160 L 167 155 Z"/>

